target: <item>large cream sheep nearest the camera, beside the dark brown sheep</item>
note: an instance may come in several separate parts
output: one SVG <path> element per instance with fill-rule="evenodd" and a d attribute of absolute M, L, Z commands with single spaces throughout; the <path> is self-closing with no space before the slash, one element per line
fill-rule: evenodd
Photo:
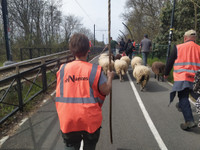
<path fill-rule="evenodd" d="M 140 90 L 143 91 L 149 81 L 150 69 L 144 65 L 135 65 L 133 77 L 136 79 L 136 83 L 141 85 Z"/>

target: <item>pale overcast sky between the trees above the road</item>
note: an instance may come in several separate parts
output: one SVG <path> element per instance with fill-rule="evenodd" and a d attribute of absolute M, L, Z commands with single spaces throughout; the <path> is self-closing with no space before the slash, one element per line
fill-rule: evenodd
<path fill-rule="evenodd" d="M 121 15 L 125 2 L 126 0 L 111 0 L 111 36 L 114 40 L 117 40 L 119 34 L 123 36 L 119 30 L 124 32 Z M 84 27 L 93 33 L 95 24 L 96 39 L 108 42 L 108 0 L 62 0 L 62 3 L 64 15 L 73 14 L 82 18 Z"/>

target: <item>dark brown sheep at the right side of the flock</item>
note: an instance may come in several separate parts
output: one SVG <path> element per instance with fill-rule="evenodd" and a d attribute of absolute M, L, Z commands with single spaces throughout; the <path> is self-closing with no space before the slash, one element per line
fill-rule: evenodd
<path fill-rule="evenodd" d="M 151 69 L 155 74 L 154 75 L 155 79 L 157 78 L 157 80 L 159 81 L 161 77 L 161 80 L 164 81 L 165 64 L 163 62 L 160 61 L 153 62 Z"/>

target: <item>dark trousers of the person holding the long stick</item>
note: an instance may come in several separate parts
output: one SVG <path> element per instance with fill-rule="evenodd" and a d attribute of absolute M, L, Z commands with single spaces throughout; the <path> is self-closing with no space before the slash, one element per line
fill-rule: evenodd
<path fill-rule="evenodd" d="M 79 150 L 81 140 L 83 140 L 83 150 L 95 150 L 99 136 L 100 128 L 94 133 L 88 133 L 86 131 L 62 133 L 65 150 Z"/>

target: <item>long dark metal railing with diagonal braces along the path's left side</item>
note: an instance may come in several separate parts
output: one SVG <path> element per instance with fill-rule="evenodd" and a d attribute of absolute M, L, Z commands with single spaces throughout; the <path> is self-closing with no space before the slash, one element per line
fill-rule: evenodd
<path fill-rule="evenodd" d="M 55 83 L 60 65 L 73 61 L 74 56 L 40 60 L 40 64 L 35 67 L 0 80 L 0 124 L 18 110 L 23 111 L 25 104 Z"/>

